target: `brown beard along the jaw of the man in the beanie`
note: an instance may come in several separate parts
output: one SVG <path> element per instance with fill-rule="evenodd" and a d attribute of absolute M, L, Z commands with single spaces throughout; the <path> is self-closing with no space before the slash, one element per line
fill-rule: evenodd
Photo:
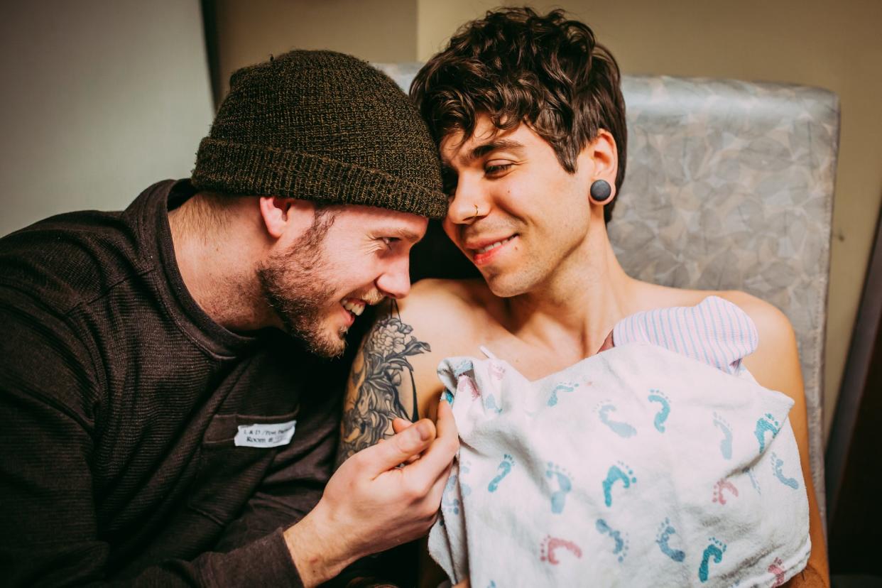
<path fill-rule="evenodd" d="M 312 354 L 337 357 L 346 349 L 346 328 L 329 332 L 324 319 L 334 288 L 325 284 L 333 272 L 327 267 L 323 243 L 336 215 L 318 209 L 310 229 L 282 253 L 258 266 L 264 297 L 286 331 Z"/>

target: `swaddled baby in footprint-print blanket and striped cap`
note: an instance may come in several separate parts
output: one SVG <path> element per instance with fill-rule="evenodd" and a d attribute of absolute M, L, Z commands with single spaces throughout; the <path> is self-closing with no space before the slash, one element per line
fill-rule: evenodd
<path fill-rule="evenodd" d="M 782 584 L 811 551 L 808 500 L 793 401 L 741 366 L 756 346 L 710 297 L 629 316 L 535 382 L 442 361 L 460 454 L 431 555 L 481 588 Z"/>

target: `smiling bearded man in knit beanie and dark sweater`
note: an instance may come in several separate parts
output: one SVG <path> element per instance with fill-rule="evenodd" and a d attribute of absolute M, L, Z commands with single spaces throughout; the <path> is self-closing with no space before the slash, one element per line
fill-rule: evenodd
<path fill-rule="evenodd" d="M 0 240 L 4 584 L 315 585 L 426 532 L 449 407 L 331 477 L 316 356 L 445 209 L 392 80 L 292 51 L 235 72 L 191 180 Z"/>

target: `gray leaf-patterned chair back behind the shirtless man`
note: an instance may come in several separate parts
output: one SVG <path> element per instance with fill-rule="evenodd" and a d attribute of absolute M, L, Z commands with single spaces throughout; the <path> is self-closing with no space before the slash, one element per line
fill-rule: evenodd
<path fill-rule="evenodd" d="M 407 91 L 419 63 L 377 64 Z M 825 518 L 826 295 L 839 100 L 826 90 L 731 80 L 623 78 L 628 165 L 609 224 L 635 278 L 743 290 L 793 324 Z"/>

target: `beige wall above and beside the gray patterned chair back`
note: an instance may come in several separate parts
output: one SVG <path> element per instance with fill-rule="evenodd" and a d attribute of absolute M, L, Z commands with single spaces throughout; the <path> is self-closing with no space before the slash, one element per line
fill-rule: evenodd
<path fill-rule="evenodd" d="M 219 19 L 226 68 L 221 75 L 227 78 L 233 63 L 253 63 L 270 50 L 289 47 L 334 48 L 372 61 L 425 60 L 457 26 L 497 4 L 227 0 L 219 3 L 219 13 L 226 15 Z M 625 73 L 790 82 L 839 94 L 841 149 L 827 322 L 828 431 L 882 202 L 882 116 L 877 113 L 882 103 L 882 2 L 572 0 L 555 5 L 591 25 Z"/>

